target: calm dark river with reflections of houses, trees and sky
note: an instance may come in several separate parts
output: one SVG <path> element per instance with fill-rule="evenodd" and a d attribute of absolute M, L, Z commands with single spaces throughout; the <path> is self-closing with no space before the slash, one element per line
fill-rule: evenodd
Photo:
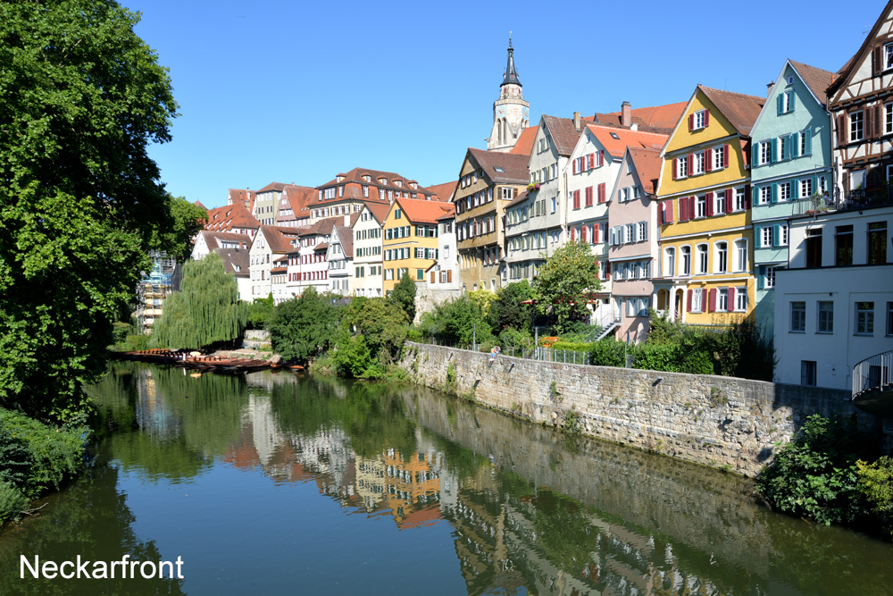
<path fill-rule="evenodd" d="M 893 594 L 893 545 L 746 479 L 424 388 L 114 363 L 88 392 L 88 473 L 0 536 L 4 594 Z M 125 554 L 183 578 L 20 578 Z"/>

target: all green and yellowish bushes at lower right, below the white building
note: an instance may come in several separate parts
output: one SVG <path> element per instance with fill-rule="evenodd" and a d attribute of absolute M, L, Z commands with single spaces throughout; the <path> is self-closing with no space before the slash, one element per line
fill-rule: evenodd
<path fill-rule="evenodd" d="M 821 524 L 881 528 L 893 539 L 893 458 L 841 416 L 809 416 L 756 481 L 772 508 Z"/>

